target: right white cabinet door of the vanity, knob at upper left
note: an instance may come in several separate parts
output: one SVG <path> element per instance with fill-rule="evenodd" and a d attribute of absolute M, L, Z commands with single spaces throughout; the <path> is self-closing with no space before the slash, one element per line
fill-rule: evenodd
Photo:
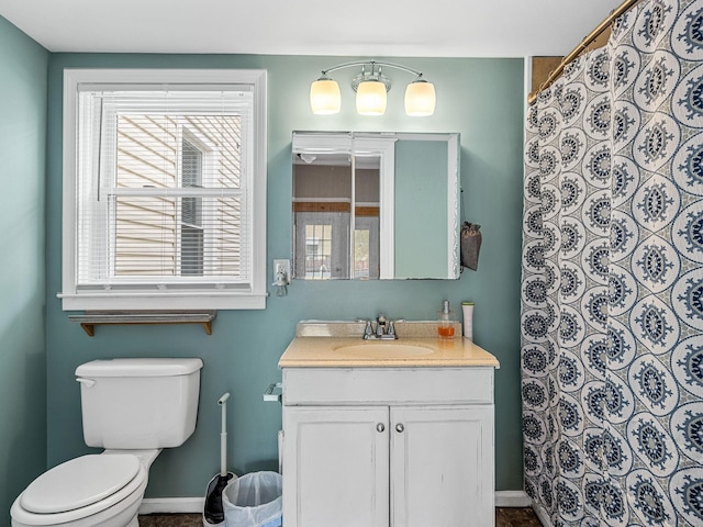
<path fill-rule="evenodd" d="M 390 426 L 391 527 L 494 525 L 492 405 L 393 406 Z"/>

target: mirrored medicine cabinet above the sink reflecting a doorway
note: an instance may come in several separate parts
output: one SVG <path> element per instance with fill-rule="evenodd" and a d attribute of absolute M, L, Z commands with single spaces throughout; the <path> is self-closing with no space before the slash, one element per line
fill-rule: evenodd
<path fill-rule="evenodd" d="M 293 278 L 459 278 L 459 135 L 293 132 Z"/>

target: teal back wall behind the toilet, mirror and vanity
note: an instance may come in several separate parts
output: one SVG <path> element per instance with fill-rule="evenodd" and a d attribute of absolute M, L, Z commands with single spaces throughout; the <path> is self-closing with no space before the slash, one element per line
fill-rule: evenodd
<path fill-rule="evenodd" d="M 277 467 L 280 406 L 264 403 L 261 392 L 280 379 L 277 361 L 302 318 L 389 317 L 427 319 L 443 299 L 458 309 L 476 302 L 478 344 L 501 361 L 496 372 L 496 483 L 522 489 L 520 410 L 520 276 L 522 217 L 522 59 L 393 58 L 423 70 L 437 89 L 432 117 L 411 119 L 402 110 L 403 72 L 389 96 L 383 117 L 356 115 L 345 90 L 342 113 L 315 116 L 309 108 L 310 82 L 324 67 L 355 57 L 253 55 L 54 54 L 48 68 L 47 145 L 47 452 L 54 466 L 86 452 L 79 391 L 74 371 L 83 361 L 122 356 L 201 357 L 202 390 L 198 427 L 180 448 L 155 461 L 147 497 L 201 496 L 219 467 L 217 397 L 228 405 L 230 464 L 237 473 Z M 478 272 L 458 281 L 303 282 L 289 294 L 268 299 L 265 311 L 220 312 L 213 335 L 198 326 L 101 326 L 89 338 L 68 322 L 56 293 L 62 269 L 62 79 L 67 67 L 264 68 L 268 70 L 268 273 L 274 258 L 291 254 L 291 132 L 352 130 L 459 132 L 461 180 L 467 217 L 482 225 Z M 345 70 L 341 71 L 344 74 Z M 348 70 L 349 78 L 353 71 Z M 344 79 L 344 75 L 337 77 Z M 272 288 L 271 288 L 272 289 Z"/>

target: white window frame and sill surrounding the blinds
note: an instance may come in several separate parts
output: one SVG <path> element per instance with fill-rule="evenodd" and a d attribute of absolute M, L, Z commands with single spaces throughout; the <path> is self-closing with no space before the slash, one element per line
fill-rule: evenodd
<path fill-rule="evenodd" d="M 254 144 L 248 178 L 250 280 L 241 289 L 80 290 L 77 284 L 77 131 L 78 96 L 87 85 L 238 85 L 254 94 Z M 261 310 L 266 309 L 267 74 L 258 69 L 72 69 L 64 70 L 64 211 L 62 299 L 64 311 L 78 310 Z"/>

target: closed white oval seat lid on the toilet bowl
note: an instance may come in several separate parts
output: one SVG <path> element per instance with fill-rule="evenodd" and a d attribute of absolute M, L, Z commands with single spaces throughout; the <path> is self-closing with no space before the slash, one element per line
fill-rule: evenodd
<path fill-rule="evenodd" d="M 136 456 L 81 456 L 40 475 L 22 493 L 21 504 L 37 514 L 74 511 L 114 494 L 138 472 Z"/>

